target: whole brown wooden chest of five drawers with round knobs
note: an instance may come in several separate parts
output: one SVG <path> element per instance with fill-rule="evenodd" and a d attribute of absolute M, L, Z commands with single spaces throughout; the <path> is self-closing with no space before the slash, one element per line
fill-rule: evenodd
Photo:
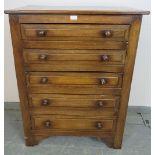
<path fill-rule="evenodd" d="M 149 12 L 5 12 L 26 145 L 52 135 L 75 135 L 120 148 L 141 19 Z"/>

